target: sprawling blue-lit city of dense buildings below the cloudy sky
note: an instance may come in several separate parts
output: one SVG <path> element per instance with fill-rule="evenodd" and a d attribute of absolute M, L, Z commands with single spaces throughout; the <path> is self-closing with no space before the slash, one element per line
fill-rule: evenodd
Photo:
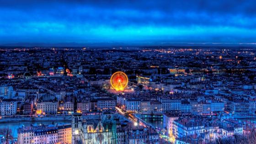
<path fill-rule="evenodd" d="M 1 142 L 253 143 L 253 48 L 0 50 Z"/>

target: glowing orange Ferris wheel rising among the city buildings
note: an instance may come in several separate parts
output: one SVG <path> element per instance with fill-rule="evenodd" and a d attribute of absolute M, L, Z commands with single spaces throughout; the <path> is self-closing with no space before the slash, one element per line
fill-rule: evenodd
<path fill-rule="evenodd" d="M 128 77 L 125 73 L 117 71 L 111 76 L 110 84 L 116 91 L 123 91 L 128 84 Z"/>

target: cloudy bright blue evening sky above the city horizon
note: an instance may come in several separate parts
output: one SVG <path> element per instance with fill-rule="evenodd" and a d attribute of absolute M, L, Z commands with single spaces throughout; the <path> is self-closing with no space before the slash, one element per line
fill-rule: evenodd
<path fill-rule="evenodd" d="M 2 1 L 2 46 L 250 45 L 255 1 Z"/>

